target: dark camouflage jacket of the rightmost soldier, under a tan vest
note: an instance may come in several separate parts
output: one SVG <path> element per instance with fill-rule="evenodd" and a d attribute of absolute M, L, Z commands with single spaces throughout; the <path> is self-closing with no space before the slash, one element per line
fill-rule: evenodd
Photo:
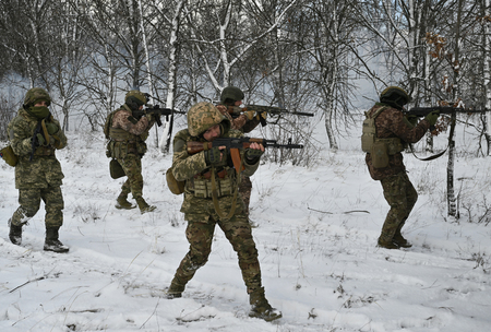
<path fill-rule="evenodd" d="M 376 103 L 369 114 L 373 114 L 380 107 L 386 106 L 385 104 Z M 424 135 L 430 128 L 430 122 L 426 119 L 412 126 L 405 118 L 403 111 L 388 107 L 375 118 L 376 138 L 390 139 L 399 138 L 403 143 L 416 143 Z M 374 180 L 381 180 L 388 176 L 406 171 L 406 166 L 403 162 L 403 154 L 400 152 L 388 156 L 388 166 L 385 168 L 374 168 L 372 166 L 372 158 L 370 153 L 366 155 L 366 163 L 370 171 L 370 176 Z"/>

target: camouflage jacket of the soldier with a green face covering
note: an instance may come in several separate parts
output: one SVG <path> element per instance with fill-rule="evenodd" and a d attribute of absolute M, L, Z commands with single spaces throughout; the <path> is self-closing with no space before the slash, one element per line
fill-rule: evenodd
<path fill-rule="evenodd" d="M 15 118 L 8 126 L 9 139 L 13 152 L 19 157 L 15 166 L 15 188 L 33 189 L 47 188 L 48 186 L 61 186 L 63 173 L 61 165 L 55 155 L 55 146 L 39 146 L 29 161 L 33 153 L 32 138 L 38 119 L 21 108 Z M 67 137 L 61 130 L 60 123 L 52 117 L 48 122 L 58 124 L 58 132 L 53 133 L 59 140 L 58 149 L 67 145 Z"/>

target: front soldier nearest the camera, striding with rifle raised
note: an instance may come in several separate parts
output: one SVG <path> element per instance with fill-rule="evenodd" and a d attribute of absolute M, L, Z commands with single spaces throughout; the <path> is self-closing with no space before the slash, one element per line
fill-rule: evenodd
<path fill-rule="evenodd" d="M 188 129 L 179 131 L 173 139 L 171 170 L 178 181 L 185 183 L 181 212 L 188 222 L 185 236 L 190 249 L 176 271 L 167 296 L 181 297 L 185 284 L 206 263 L 212 250 L 213 233 L 218 225 L 239 258 L 242 278 L 250 295 L 249 316 L 271 321 L 280 318 L 282 312 L 272 308 L 264 295 L 251 226 L 244 214 L 242 200 L 233 195 L 237 175 L 235 168 L 229 166 L 229 151 L 225 146 L 192 155 L 187 151 L 187 143 L 191 141 L 212 142 L 218 137 L 242 135 L 240 131 L 230 130 L 230 121 L 213 104 L 202 102 L 190 108 Z M 241 152 L 244 175 L 250 176 L 258 169 L 263 153 L 264 146 L 258 143 L 252 143 L 250 149 Z M 215 197 L 212 190 L 214 186 L 218 188 L 214 191 Z M 224 217 L 221 212 L 228 212 L 228 215 Z"/>

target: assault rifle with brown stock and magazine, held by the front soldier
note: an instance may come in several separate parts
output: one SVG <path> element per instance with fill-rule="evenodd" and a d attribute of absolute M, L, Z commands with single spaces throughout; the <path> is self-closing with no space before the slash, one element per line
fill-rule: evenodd
<path fill-rule="evenodd" d="M 236 171 L 240 169 L 240 153 L 239 150 L 244 150 L 251 146 L 251 143 L 263 144 L 264 147 L 284 147 L 284 149 L 303 149 L 302 144 L 291 144 L 291 139 L 288 144 L 278 144 L 276 140 L 252 139 L 252 138 L 218 138 L 213 142 L 188 142 L 188 153 L 195 154 L 215 146 L 225 146 L 230 151 Z"/>

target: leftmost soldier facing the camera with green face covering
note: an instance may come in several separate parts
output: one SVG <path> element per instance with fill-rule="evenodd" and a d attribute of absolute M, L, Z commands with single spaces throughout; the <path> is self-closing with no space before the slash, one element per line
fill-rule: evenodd
<path fill-rule="evenodd" d="M 68 252 L 59 239 L 64 208 L 61 185 L 63 173 L 55 151 L 67 146 L 67 137 L 60 123 L 49 111 L 51 97 L 41 87 L 27 91 L 24 105 L 8 126 L 15 165 L 15 188 L 20 206 L 9 220 L 9 238 L 22 244 L 22 226 L 37 213 L 40 200 L 45 202 L 46 239 L 44 250 Z"/>

